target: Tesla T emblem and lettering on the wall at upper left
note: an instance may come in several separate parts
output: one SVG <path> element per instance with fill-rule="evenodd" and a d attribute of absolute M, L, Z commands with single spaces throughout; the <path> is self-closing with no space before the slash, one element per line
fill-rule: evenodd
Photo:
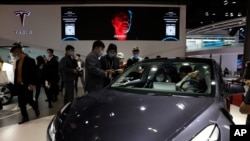
<path fill-rule="evenodd" d="M 25 18 L 30 15 L 30 11 L 17 10 L 17 11 L 14 11 L 14 13 L 16 16 L 19 16 L 21 20 L 21 25 L 24 27 Z M 32 34 L 32 30 L 16 30 L 15 33 L 18 35 L 28 35 L 28 34 Z"/>

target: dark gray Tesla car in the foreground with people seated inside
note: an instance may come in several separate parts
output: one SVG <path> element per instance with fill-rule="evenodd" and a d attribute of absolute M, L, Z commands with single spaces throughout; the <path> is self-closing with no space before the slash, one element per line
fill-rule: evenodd
<path fill-rule="evenodd" d="M 243 84 L 224 82 L 212 59 L 144 60 L 108 87 L 62 107 L 48 140 L 229 141 L 234 122 L 225 98 L 243 92 Z"/>

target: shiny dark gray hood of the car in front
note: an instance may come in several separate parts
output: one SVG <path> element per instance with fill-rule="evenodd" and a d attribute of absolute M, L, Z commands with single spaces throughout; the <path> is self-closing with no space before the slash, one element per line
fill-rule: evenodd
<path fill-rule="evenodd" d="M 105 89 L 72 104 L 64 132 L 74 136 L 72 140 L 166 140 L 213 102 L 209 97 L 152 96 Z"/>

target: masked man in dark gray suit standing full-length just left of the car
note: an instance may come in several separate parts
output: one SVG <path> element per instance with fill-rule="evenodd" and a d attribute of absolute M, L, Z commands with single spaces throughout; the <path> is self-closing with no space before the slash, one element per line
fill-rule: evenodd
<path fill-rule="evenodd" d="M 59 72 L 61 73 L 61 79 L 64 83 L 64 104 L 67 104 L 74 99 L 74 81 L 77 73 L 77 63 L 74 59 L 75 48 L 71 45 L 67 45 L 65 56 L 60 60 Z"/>

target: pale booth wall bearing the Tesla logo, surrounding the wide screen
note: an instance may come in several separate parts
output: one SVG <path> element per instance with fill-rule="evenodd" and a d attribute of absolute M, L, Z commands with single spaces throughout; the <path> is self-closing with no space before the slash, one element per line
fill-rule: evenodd
<path fill-rule="evenodd" d="M 121 5 L 115 5 L 115 4 L 88 4 L 88 5 L 77 5 L 77 7 L 119 7 Z M 146 39 L 134 39 L 134 40 L 103 40 L 105 45 L 108 46 L 109 43 L 115 43 L 118 46 L 118 52 L 123 52 L 125 54 L 125 58 L 128 58 L 132 55 L 131 51 L 132 48 L 135 46 L 139 46 L 141 48 L 141 56 L 142 57 L 150 57 L 154 58 L 157 55 L 161 56 L 185 56 L 185 49 L 186 49 L 186 6 L 184 5 L 122 5 L 126 8 L 133 8 L 137 7 L 139 10 L 140 8 L 166 8 L 171 9 L 172 8 L 178 8 L 179 11 L 177 12 L 177 20 L 178 24 L 176 24 L 173 28 L 173 25 L 171 24 L 171 18 L 170 23 L 167 23 L 167 21 L 164 19 L 165 15 L 160 15 L 163 21 L 163 26 L 166 27 L 166 29 L 162 29 L 163 33 L 170 34 L 169 37 L 172 37 L 172 35 L 178 36 L 177 40 L 157 40 L 153 39 L 150 40 L 150 38 Z M 66 24 L 64 23 L 65 20 L 63 20 L 62 15 L 65 14 L 62 12 L 62 7 L 76 7 L 76 5 L 0 5 L 0 18 L 1 20 L 1 27 L 0 27 L 0 39 L 6 40 L 8 42 L 5 42 L 5 44 L 1 44 L 1 46 L 8 46 L 12 45 L 13 42 L 20 41 L 22 42 L 22 45 L 28 46 L 30 48 L 35 48 L 41 50 L 40 55 L 43 55 L 46 53 L 47 48 L 53 48 L 55 50 L 55 54 L 58 55 L 64 55 L 65 53 L 65 46 L 68 44 L 71 44 L 75 47 L 75 50 L 77 53 L 81 54 L 84 58 L 92 49 L 92 43 L 94 40 L 102 38 L 93 38 L 93 40 L 87 39 L 87 40 L 63 40 L 62 35 L 66 32 L 64 30 L 66 29 Z M 74 11 L 73 11 L 74 12 Z M 95 11 L 102 13 L 102 11 Z M 170 14 L 169 14 L 170 13 Z M 79 14 L 79 13 L 78 13 Z M 81 12 L 80 12 L 81 14 Z M 88 15 L 91 15 L 92 13 L 87 13 Z M 134 11 L 134 17 L 132 19 L 136 21 L 136 11 Z M 171 12 L 168 12 L 168 16 L 171 16 Z M 95 17 L 92 17 L 94 19 L 102 19 L 103 15 L 100 14 L 100 17 L 98 14 L 94 14 Z M 158 15 L 159 16 L 159 15 Z M 175 15 L 176 16 L 176 15 Z M 147 15 L 141 15 L 140 17 L 147 17 Z M 82 16 L 76 17 L 78 18 L 78 21 L 82 22 L 90 22 L 89 25 L 91 25 L 91 21 L 82 19 Z M 80 19 L 81 18 L 81 19 Z M 166 23 L 164 23 L 164 20 Z M 92 21 L 93 22 L 93 21 Z M 98 22 L 102 23 L 101 20 Z M 147 24 L 147 28 L 157 29 L 158 27 L 150 27 L 149 23 L 154 22 L 150 20 L 142 21 L 142 25 Z M 176 21 L 175 21 L 176 22 Z M 65 24 L 62 25 L 62 23 Z M 84 26 L 79 25 L 79 23 L 76 23 L 78 27 Z M 94 24 L 94 23 L 92 23 Z M 68 26 L 70 25 L 70 26 Z M 135 24 L 132 24 L 133 26 Z M 139 27 L 139 25 L 137 25 Z M 155 25 L 152 25 L 155 26 Z M 168 27 L 167 27 L 168 26 Z M 171 27 L 171 28 L 169 28 Z M 71 24 L 67 24 L 67 28 L 71 30 Z M 81 32 L 84 32 L 84 29 L 88 29 L 90 27 L 82 27 Z M 167 29 L 168 28 L 168 29 Z M 176 28 L 176 29 L 175 29 Z M 76 28 L 77 29 L 77 28 Z M 88 31 L 89 35 L 91 34 L 106 34 L 104 33 L 104 29 L 97 28 L 97 31 Z M 171 29 L 174 29 L 176 33 L 173 33 Z M 146 34 L 149 29 L 141 29 L 140 34 Z M 86 30 L 87 31 L 87 30 Z M 134 29 L 135 32 L 135 29 Z M 170 32 L 170 33 L 169 33 Z M 152 32 L 153 33 L 153 32 Z M 67 34 L 74 34 L 74 33 L 67 33 Z M 172 35 L 171 35 L 172 34 Z M 154 35 L 151 35 L 152 37 Z M 98 37 L 98 36 L 96 36 Z M 102 36 L 100 36 L 102 37 Z M 1 43 L 1 42 L 0 42 Z M 9 43 L 9 44 L 6 44 Z M 32 49 L 31 51 L 32 52 Z M 38 52 L 39 54 L 39 52 Z"/>

